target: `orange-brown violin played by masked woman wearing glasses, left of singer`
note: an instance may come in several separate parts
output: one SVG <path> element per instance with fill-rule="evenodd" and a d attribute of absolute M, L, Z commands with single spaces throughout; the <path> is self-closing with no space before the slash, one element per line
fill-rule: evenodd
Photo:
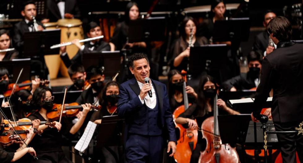
<path fill-rule="evenodd" d="M 101 106 L 92 106 L 91 108 L 100 110 Z M 65 104 L 62 111 L 62 116 L 74 117 L 79 113 L 80 109 L 83 108 L 77 102 Z M 46 113 L 46 116 L 51 121 L 58 120 L 61 115 L 61 110 L 62 110 L 62 104 L 54 104 L 53 109 L 51 111 L 48 111 Z"/>

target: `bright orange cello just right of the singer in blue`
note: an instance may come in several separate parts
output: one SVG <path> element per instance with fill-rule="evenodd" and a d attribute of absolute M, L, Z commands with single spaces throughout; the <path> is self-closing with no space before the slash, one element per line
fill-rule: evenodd
<path fill-rule="evenodd" d="M 182 70 L 181 75 L 183 77 L 183 100 L 184 105 L 177 107 L 177 109 L 173 112 L 173 119 L 176 125 L 176 128 L 180 130 L 180 138 L 177 140 L 177 148 L 176 153 L 173 155 L 176 162 L 189 163 L 192 151 L 196 148 L 196 144 L 198 141 L 198 130 L 184 128 L 181 124 L 177 124 L 175 119 L 178 116 L 186 111 L 190 104 L 188 103 L 188 97 L 186 93 L 186 71 Z"/>

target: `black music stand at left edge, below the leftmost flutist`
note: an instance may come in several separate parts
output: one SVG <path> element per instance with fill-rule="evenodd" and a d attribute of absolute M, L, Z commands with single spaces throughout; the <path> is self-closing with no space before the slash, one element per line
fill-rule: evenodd
<path fill-rule="evenodd" d="M 4 67 L 8 70 L 8 73 L 10 74 L 9 77 L 12 78 L 12 83 L 15 83 L 17 81 L 18 75 L 22 68 L 23 71 L 19 78 L 19 83 L 30 79 L 30 58 L 13 59 L 12 61 L 1 61 L 0 63 L 0 67 Z"/>

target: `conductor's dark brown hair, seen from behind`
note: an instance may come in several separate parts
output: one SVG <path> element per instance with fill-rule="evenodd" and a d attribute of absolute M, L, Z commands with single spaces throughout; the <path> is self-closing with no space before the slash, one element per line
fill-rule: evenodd
<path fill-rule="evenodd" d="M 290 41 L 292 37 L 292 25 L 284 16 L 271 19 L 267 25 L 267 31 L 279 41 Z"/>

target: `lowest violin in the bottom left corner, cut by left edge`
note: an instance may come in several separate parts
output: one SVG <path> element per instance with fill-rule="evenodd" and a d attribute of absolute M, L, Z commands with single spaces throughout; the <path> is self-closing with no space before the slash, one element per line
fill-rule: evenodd
<path fill-rule="evenodd" d="M 28 130 L 23 130 L 21 127 L 18 126 L 14 128 L 15 131 L 20 135 L 20 137 L 15 133 L 13 128 L 10 128 L 9 130 L 4 130 L 0 135 L 0 144 L 2 144 L 3 146 L 7 146 L 7 144 L 10 144 L 13 140 L 22 141 L 26 138 Z M 34 133 L 41 135 L 43 131 L 38 131 L 36 128 L 34 128 Z"/>

